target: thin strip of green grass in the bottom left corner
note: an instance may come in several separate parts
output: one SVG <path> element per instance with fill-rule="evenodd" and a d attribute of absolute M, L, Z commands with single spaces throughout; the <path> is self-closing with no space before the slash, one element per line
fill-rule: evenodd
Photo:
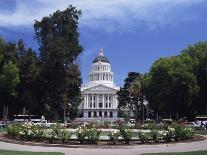
<path fill-rule="evenodd" d="M 64 155 L 63 153 L 54 152 L 23 152 L 23 151 L 7 151 L 0 150 L 0 155 Z"/>

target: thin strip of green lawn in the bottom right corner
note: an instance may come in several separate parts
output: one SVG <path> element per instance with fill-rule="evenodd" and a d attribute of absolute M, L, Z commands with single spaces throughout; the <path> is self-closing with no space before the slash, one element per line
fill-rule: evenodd
<path fill-rule="evenodd" d="M 207 155 L 207 151 L 183 152 L 183 153 L 147 153 L 143 155 Z"/>

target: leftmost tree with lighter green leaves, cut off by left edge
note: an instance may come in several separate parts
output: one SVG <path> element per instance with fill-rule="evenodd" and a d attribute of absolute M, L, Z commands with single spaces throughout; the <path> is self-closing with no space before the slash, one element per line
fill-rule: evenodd
<path fill-rule="evenodd" d="M 0 38 L 0 102 L 3 106 L 3 119 L 7 119 L 9 107 L 16 96 L 16 86 L 19 83 L 19 70 L 11 53 L 16 50 L 13 44 L 6 44 Z"/>

